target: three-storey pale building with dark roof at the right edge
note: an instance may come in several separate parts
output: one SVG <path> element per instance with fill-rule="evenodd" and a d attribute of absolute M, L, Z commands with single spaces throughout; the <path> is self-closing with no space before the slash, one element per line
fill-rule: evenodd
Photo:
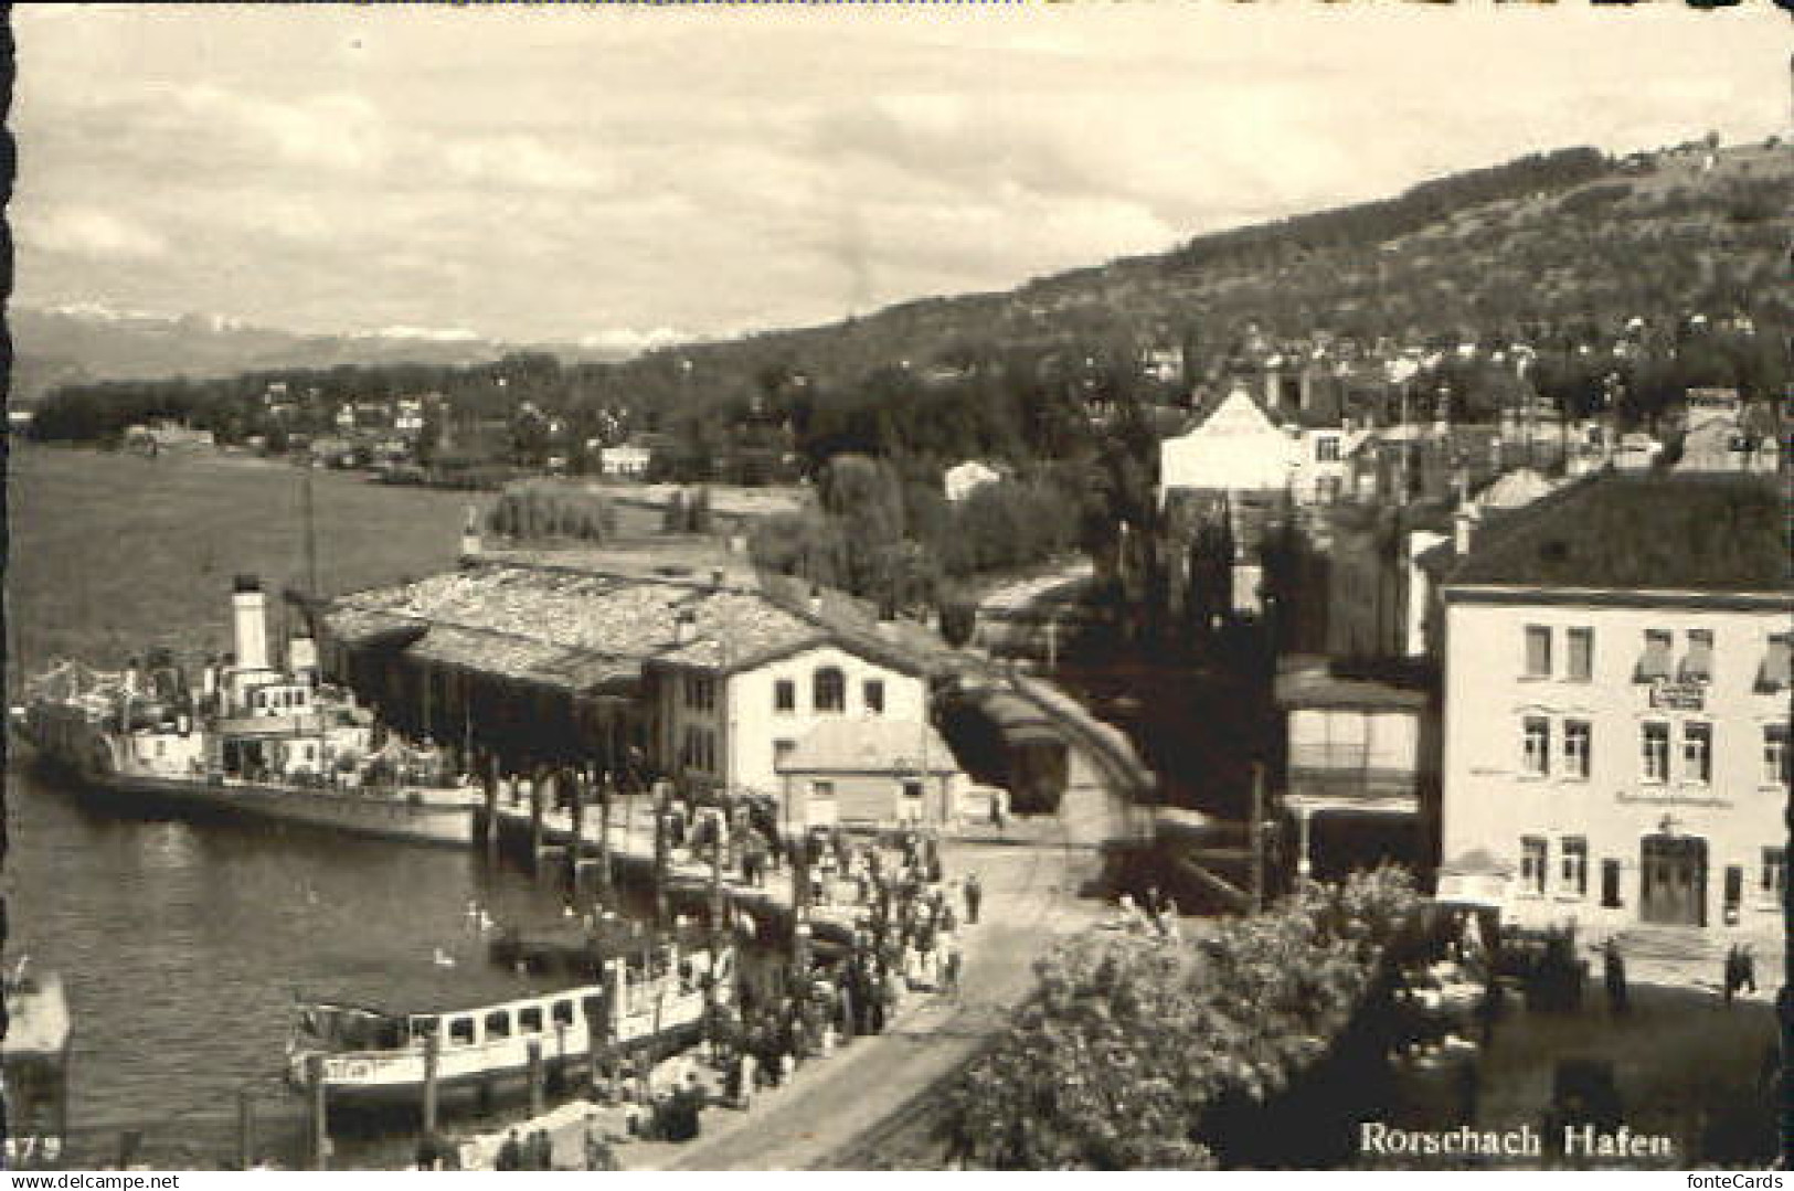
<path fill-rule="evenodd" d="M 1441 897 L 1706 956 L 1783 947 L 1787 500 L 1609 474 L 1514 513 L 1444 587 Z"/>

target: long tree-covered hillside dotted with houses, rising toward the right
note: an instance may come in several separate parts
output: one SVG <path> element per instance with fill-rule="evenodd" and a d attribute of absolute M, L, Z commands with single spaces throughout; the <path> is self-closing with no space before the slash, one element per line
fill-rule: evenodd
<path fill-rule="evenodd" d="M 300 402 L 282 438 L 319 432 L 339 402 L 440 393 L 450 425 L 508 423 L 499 448 L 524 466 L 553 454 L 581 470 L 596 445 L 649 434 L 673 479 L 764 482 L 843 452 L 922 475 L 969 456 L 1091 457 L 1118 404 L 1177 407 L 1229 371 L 1292 362 L 1358 387 L 1450 382 L 1460 416 L 1493 416 L 1521 355 L 1548 400 L 1618 400 L 1642 422 L 1688 384 L 1785 391 L 1790 176 L 1776 142 L 1566 149 L 829 326 L 608 364 L 520 353 L 66 386 L 36 432 L 104 439 L 169 416 L 266 436 L 258 396 L 283 380 Z"/>

